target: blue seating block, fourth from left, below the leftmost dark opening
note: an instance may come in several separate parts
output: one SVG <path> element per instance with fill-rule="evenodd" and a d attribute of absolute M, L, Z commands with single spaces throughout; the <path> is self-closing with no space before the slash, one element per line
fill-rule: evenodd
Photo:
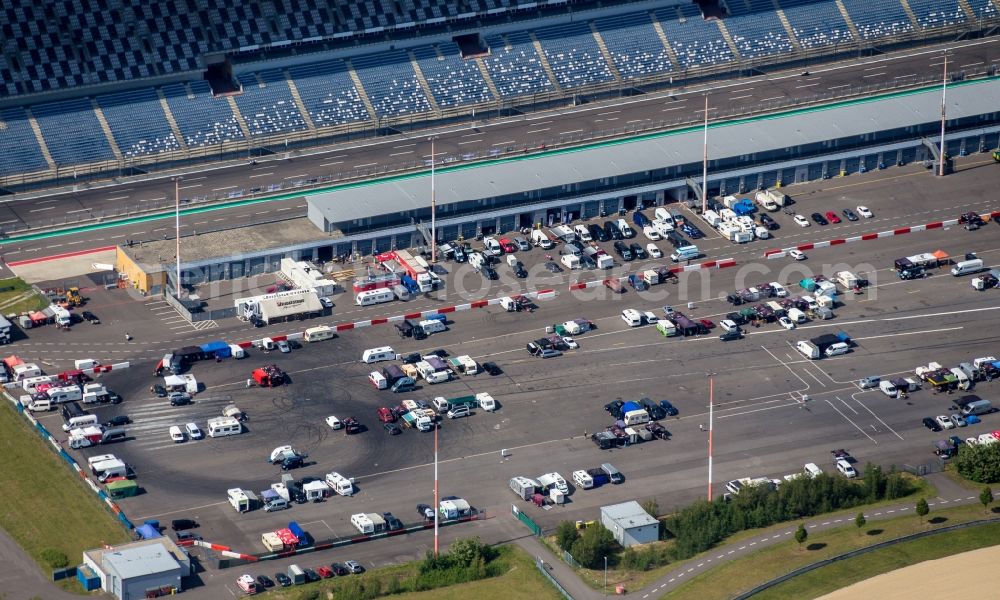
<path fill-rule="evenodd" d="M 165 85 L 162 89 L 188 148 L 244 139 L 236 115 L 225 98 L 213 98 L 212 90 L 205 81 L 194 81 L 189 85 L 190 97 L 179 83 Z"/>

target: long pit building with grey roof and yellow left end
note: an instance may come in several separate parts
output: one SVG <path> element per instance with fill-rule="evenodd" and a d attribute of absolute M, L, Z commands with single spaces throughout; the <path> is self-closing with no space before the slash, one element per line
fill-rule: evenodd
<path fill-rule="evenodd" d="M 954 83 L 947 99 L 950 156 L 1000 146 L 1000 78 Z M 932 161 L 940 114 L 941 89 L 928 87 L 711 124 L 708 193 Z M 701 127 L 689 127 L 465 165 L 441 157 L 438 242 L 693 200 L 702 136 Z M 182 250 L 184 282 L 276 271 L 282 258 L 324 262 L 429 242 L 429 172 L 282 198 L 305 198 L 308 218 L 194 236 L 204 239 L 200 249 Z M 184 238 L 182 246 L 189 242 Z M 173 241 L 145 246 L 141 260 L 135 249 L 122 249 L 120 262 L 131 263 L 152 291 L 172 275 Z M 150 261 L 153 256 L 161 260 Z M 156 271 L 158 278 L 148 277 Z"/>

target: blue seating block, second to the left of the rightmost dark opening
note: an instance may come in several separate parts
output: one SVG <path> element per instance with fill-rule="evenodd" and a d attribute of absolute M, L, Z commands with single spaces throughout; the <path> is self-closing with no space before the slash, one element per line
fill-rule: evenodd
<path fill-rule="evenodd" d="M 594 21 L 615 68 L 624 79 L 642 78 L 674 70 L 647 13 L 629 13 Z"/>

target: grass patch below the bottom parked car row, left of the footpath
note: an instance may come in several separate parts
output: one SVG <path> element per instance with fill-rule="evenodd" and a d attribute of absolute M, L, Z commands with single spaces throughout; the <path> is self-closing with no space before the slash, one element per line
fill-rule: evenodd
<path fill-rule="evenodd" d="M 510 568 L 498 577 L 460 583 L 424 592 L 407 592 L 386 595 L 386 598 L 401 600 L 561 600 L 562 596 L 535 567 L 534 560 L 518 546 L 502 548 L 503 560 Z M 392 578 L 405 579 L 417 571 L 415 563 L 374 569 L 359 577 L 361 582 L 379 579 L 381 589 Z M 351 576 L 352 578 L 355 576 Z M 339 598 L 337 590 L 350 581 L 336 577 L 314 584 L 272 590 L 264 597 L 274 600 L 306 600 L 316 598 Z M 342 595 L 342 594 L 341 594 Z"/>

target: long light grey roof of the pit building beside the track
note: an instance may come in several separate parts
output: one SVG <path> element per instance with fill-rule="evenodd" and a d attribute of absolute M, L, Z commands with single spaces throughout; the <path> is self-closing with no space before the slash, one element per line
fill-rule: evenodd
<path fill-rule="evenodd" d="M 1000 80 L 970 82 L 948 90 L 949 118 L 987 114 L 997 106 Z M 709 133 L 709 158 L 752 155 L 933 122 L 940 118 L 940 110 L 940 90 L 928 89 L 716 123 Z M 702 148 L 702 129 L 691 127 L 589 148 L 442 169 L 435 181 L 436 201 L 441 206 L 700 163 Z M 324 219 L 346 223 L 426 209 L 430 176 L 421 173 L 346 185 L 311 195 L 308 203 L 310 220 L 321 228 Z"/>

